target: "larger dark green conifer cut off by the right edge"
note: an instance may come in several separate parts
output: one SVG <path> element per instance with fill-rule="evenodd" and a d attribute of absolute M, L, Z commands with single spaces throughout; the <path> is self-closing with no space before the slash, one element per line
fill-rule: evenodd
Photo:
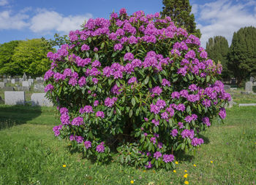
<path fill-rule="evenodd" d="M 243 80 L 256 73 L 256 28 L 240 28 L 233 34 L 230 45 L 228 68 L 233 71 L 238 86 Z"/>

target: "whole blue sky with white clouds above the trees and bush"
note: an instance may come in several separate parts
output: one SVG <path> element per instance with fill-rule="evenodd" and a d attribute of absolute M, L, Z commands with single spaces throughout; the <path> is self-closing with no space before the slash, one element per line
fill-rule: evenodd
<path fill-rule="evenodd" d="M 244 26 L 256 27 L 255 0 L 190 0 L 197 27 L 206 46 L 209 37 L 222 35 L 230 43 L 233 32 Z M 0 44 L 11 40 L 47 39 L 55 33 L 68 34 L 80 28 L 84 20 L 108 18 L 122 7 L 132 14 L 162 11 L 162 0 L 0 0 Z"/>

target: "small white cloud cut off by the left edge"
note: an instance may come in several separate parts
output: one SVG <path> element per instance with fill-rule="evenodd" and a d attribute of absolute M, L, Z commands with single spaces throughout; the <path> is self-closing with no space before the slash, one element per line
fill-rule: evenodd
<path fill-rule="evenodd" d="M 7 29 L 21 29 L 29 25 L 26 20 L 29 18 L 29 15 L 18 13 L 12 15 L 10 10 L 0 12 L 0 30 Z"/>

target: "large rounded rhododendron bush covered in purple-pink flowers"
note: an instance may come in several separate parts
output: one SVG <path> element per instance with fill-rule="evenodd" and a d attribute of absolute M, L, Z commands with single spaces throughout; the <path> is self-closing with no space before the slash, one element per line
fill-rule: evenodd
<path fill-rule="evenodd" d="M 170 17 L 121 9 L 69 39 L 48 53 L 45 92 L 60 112 L 55 135 L 86 157 L 174 168 L 174 155 L 200 146 L 198 133 L 226 116 L 222 66 Z"/>

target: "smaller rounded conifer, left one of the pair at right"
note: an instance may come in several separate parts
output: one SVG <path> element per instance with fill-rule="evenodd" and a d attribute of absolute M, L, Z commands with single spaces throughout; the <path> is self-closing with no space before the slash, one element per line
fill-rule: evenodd
<path fill-rule="evenodd" d="M 206 43 L 206 51 L 209 58 L 213 59 L 216 63 L 218 61 L 222 63 L 222 79 L 230 79 L 232 71 L 227 68 L 227 54 L 229 52 L 227 39 L 224 36 L 211 37 Z"/>

